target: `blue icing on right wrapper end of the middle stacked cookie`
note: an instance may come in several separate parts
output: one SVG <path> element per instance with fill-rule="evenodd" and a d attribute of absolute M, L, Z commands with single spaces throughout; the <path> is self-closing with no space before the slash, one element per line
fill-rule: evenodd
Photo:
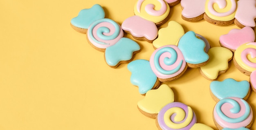
<path fill-rule="evenodd" d="M 188 31 L 180 38 L 178 48 L 187 63 L 200 64 L 209 59 L 209 55 L 204 51 L 204 41 L 197 38 L 193 31 Z"/>

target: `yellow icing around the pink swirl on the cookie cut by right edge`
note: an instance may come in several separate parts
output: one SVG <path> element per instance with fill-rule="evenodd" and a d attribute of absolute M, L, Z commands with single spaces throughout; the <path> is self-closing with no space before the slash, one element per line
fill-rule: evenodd
<path fill-rule="evenodd" d="M 245 64 L 243 61 L 242 61 L 242 58 L 241 58 L 241 53 L 246 49 L 246 48 L 254 48 L 256 49 L 256 46 L 255 45 L 252 45 L 252 44 L 243 44 L 241 46 L 239 46 L 235 53 L 234 53 L 234 57 L 236 59 L 236 62 L 238 63 L 239 66 L 241 66 L 243 69 L 247 70 L 247 71 L 254 71 L 256 70 L 256 68 L 253 68 L 253 67 L 250 67 L 250 66 L 247 66 L 247 64 Z M 250 61 L 250 62 L 253 62 L 253 63 L 256 63 L 256 58 L 252 58 L 251 55 L 247 55 L 247 59 Z"/>

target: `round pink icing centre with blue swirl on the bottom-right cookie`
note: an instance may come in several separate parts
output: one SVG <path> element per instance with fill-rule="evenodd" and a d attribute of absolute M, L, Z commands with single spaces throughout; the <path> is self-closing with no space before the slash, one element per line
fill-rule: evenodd
<path fill-rule="evenodd" d="M 252 121 L 252 108 L 238 97 L 229 97 L 220 100 L 213 110 L 215 121 L 222 128 L 246 127 Z"/>

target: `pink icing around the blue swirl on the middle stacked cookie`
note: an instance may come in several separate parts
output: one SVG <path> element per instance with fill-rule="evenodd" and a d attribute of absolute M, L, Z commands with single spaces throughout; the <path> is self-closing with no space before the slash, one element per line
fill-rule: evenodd
<path fill-rule="evenodd" d="M 162 49 L 162 48 L 164 48 L 164 47 L 173 48 L 173 49 L 177 52 L 177 60 L 176 60 L 176 62 L 175 62 L 173 65 L 166 65 L 166 64 L 164 64 L 164 62 L 163 62 L 164 57 L 171 58 L 171 55 L 170 55 L 169 53 L 166 53 L 166 52 L 162 53 L 162 55 L 161 55 L 160 58 L 159 58 L 159 64 L 160 64 L 160 66 L 161 66 L 164 70 L 166 70 L 166 71 L 168 71 L 168 70 L 173 70 L 174 68 L 176 68 L 176 67 L 178 66 L 177 64 L 179 64 L 180 61 L 183 60 L 182 66 L 181 66 L 180 70 L 178 70 L 176 73 L 173 73 L 173 74 L 170 74 L 170 75 L 165 75 L 165 74 L 162 74 L 162 73 L 160 73 L 159 71 L 157 71 L 157 69 L 156 69 L 156 67 L 155 67 L 155 63 L 154 63 L 155 54 L 157 53 L 157 51 L 159 51 L 160 49 Z M 157 48 L 157 49 L 153 52 L 153 54 L 151 55 L 149 62 L 150 62 L 150 66 L 151 66 L 152 71 L 155 73 L 155 75 L 156 75 L 157 77 L 159 77 L 159 78 L 161 78 L 161 79 L 168 79 L 168 78 L 171 78 L 171 77 L 175 77 L 175 76 L 179 75 L 180 73 L 182 73 L 182 71 L 183 71 L 184 68 L 186 67 L 186 62 L 185 62 L 185 59 L 184 59 L 184 57 L 183 57 L 183 55 L 182 55 L 182 52 L 181 52 L 180 49 L 179 49 L 177 46 L 175 46 L 175 45 L 166 45 L 166 46 L 162 46 L 162 47 L 160 47 L 160 48 Z"/>

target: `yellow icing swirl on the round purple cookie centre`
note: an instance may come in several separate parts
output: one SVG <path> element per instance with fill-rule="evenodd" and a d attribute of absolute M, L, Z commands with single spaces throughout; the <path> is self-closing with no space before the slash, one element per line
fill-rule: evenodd
<path fill-rule="evenodd" d="M 188 113 L 187 113 L 188 116 L 187 116 L 186 120 L 182 123 L 173 123 L 170 120 L 171 115 L 173 115 L 174 113 L 177 114 L 174 118 L 174 121 L 176 121 L 176 122 L 182 121 L 186 116 L 186 113 L 184 112 L 184 110 L 182 108 L 174 107 L 174 108 L 168 109 L 164 114 L 164 123 L 166 123 L 166 126 L 173 128 L 173 129 L 184 128 L 184 127 L 188 126 L 189 123 L 193 119 L 193 110 L 189 106 L 188 106 Z"/>

